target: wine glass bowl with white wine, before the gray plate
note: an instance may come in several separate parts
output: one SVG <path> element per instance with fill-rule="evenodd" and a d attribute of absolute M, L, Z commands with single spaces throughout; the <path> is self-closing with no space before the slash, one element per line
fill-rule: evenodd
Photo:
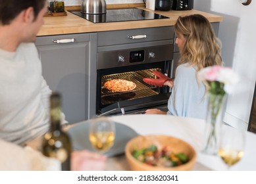
<path fill-rule="evenodd" d="M 93 149 L 103 154 L 113 147 L 115 141 L 115 122 L 108 118 L 95 118 L 91 121 L 89 139 Z"/>

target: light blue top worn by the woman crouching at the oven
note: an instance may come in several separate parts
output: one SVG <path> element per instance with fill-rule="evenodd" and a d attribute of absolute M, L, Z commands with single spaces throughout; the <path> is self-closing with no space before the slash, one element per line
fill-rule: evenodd
<path fill-rule="evenodd" d="M 196 70 L 189 64 L 180 64 L 176 69 L 174 87 L 172 87 L 172 94 L 168 100 L 167 114 L 206 118 L 205 85 L 197 83 Z"/>

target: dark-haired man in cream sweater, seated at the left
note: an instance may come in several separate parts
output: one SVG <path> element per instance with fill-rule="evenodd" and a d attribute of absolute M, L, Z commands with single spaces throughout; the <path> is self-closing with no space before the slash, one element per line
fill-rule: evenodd
<path fill-rule="evenodd" d="M 51 90 L 34 45 L 46 11 L 46 0 L 0 0 L 0 170 L 60 168 L 57 160 L 24 148 L 49 129 Z M 105 156 L 86 150 L 72 152 L 72 170 L 103 170 L 104 162 Z"/>

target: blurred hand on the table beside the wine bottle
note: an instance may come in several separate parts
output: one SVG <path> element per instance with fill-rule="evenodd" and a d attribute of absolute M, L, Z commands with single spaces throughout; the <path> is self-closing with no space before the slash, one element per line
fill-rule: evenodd
<path fill-rule="evenodd" d="M 88 150 L 76 150 L 71 154 L 72 171 L 103 171 L 107 157 Z"/>

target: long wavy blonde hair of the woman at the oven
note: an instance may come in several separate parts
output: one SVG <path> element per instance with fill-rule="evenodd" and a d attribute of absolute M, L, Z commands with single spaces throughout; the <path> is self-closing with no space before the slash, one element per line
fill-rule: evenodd
<path fill-rule="evenodd" d="M 205 16 L 180 16 L 174 25 L 174 31 L 176 35 L 183 35 L 185 38 L 179 64 L 189 63 L 190 66 L 197 66 L 196 70 L 222 65 L 220 40 Z"/>

